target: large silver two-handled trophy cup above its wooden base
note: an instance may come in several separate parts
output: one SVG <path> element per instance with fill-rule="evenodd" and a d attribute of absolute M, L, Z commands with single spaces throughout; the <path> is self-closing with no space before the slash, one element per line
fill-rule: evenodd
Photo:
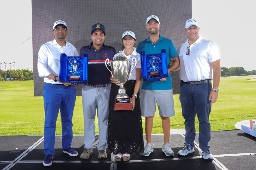
<path fill-rule="evenodd" d="M 115 79 L 118 79 L 120 81 L 121 86 L 118 89 L 118 94 L 116 95 L 116 98 L 128 98 L 128 95 L 125 92 L 124 84 L 128 80 L 129 76 L 131 76 L 132 70 L 135 69 L 137 65 L 137 59 L 135 57 L 132 57 L 132 62 L 127 60 L 127 58 L 122 55 L 122 51 L 119 51 L 119 55 L 116 56 L 116 58 L 109 62 L 109 59 L 107 58 L 105 61 L 105 65 L 108 69 L 108 66 L 111 68 L 111 75 Z M 108 65 L 108 66 L 107 66 Z M 134 65 L 131 70 L 131 65 Z"/>

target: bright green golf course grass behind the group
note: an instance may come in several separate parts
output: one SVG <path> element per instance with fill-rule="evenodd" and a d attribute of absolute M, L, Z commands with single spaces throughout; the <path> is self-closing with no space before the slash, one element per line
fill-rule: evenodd
<path fill-rule="evenodd" d="M 219 97 L 217 102 L 212 104 L 210 115 L 212 131 L 236 129 L 236 122 L 256 119 L 256 81 L 246 81 L 252 78 L 256 79 L 256 76 L 221 78 Z M 179 95 L 174 95 L 174 106 L 175 116 L 170 118 L 171 129 L 184 129 Z M 156 111 L 152 133 L 162 134 L 162 120 L 157 108 Z M 144 129 L 144 117 L 142 121 Z M 60 116 L 56 125 L 56 134 L 60 135 Z M 95 131 L 98 133 L 97 115 Z M 145 134 L 145 131 L 143 133 Z M 84 134 L 82 96 L 76 97 L 73 134 Z M 34 97 L 33 81 L 0 81 L 0 136 L 3 135 L 44 135 L 43 97 Z"/>

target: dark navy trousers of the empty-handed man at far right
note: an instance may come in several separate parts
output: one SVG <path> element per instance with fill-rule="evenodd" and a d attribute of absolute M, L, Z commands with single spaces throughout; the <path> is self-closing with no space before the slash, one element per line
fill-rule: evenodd
<path fill-rule="evenodd" d="M 209 100 L 212 91 L 212 84 L 202 85 L 185 84 L 180 82 L 180 103 L 182 116 L 185 119 L 185 141 L 187 144 L 195 146 L 196 137 L 195 117 L 199 121 L 199 147 L 201 150 L 209 149 L 208 142 L 211 140 L 211 125 L 209 115 L 211 112 L 211 100 Z"/>

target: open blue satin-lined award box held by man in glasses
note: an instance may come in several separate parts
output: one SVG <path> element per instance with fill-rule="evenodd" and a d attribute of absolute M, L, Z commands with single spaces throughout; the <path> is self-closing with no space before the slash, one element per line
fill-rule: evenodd
<path fill-rule="evenodd" d="M 88 82 L 88 54 L 68 57 L 60 54 L 60 82 L 84 84 Z"/>

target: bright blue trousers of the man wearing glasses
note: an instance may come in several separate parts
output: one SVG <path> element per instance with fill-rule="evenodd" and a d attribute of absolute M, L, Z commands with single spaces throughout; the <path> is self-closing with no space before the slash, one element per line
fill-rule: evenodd
<path fill-rule="evenodd" d="M 59 110 L 62 126 L 62 148 L 71 146 L 72 116 L 76 102 L 75 86 L 44 83 L 44 154 L 54 154 L 55 129 Z"/>

